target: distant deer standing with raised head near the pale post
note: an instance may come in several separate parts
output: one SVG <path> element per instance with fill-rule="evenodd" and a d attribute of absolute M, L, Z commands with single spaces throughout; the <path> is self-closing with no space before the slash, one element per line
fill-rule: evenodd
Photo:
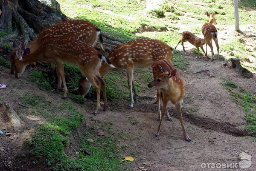
<path fill-rule="evenodd" d="M 206 56 L 207 56 L 207 45 L 208 45 L 212 51 L 211 59 L 213 61 L 212 39 L 214 40 L 215 45 L 217 47 L 218 59 L 219 59 L 218 31 L 215 28 L 215 26 L 213 26 L 213 24 L 217 24 L 217 23 L 216 23 L 216 19 L 215 19 L 215 14 L 210 15 L 207 12 L 207 17 L 209 18 L 209 23 L 204 23 L 204 25 L 202 26 L 202 33 L 204 35 L 204 39 L 206 40 Z"/>

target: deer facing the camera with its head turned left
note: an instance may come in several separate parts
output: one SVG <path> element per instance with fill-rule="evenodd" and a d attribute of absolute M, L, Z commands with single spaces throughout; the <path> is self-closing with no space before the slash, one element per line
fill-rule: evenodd
<path fill-rule="evenodd" d="M 180 77 L 175 67 L 168 60 L 159 60 L 152 66 L 154 81 L 148 84 L 149 88 L 157 88 L 160 91 L 160 97 L 163 100 L 163 109 L 160 116 L 160 123 L 157 128 L 157 133 L 155 137 L 159 137 L 159 131 L 164 114 L 167 110 L 167 104 L 171 101 L 175 105 L 177 110 L 178 119 L 183 131 L 183 136 L 186 141 L 190 142 L 191 139 L 187 135 L 184 125 L 183 118 L 181 114 L 181 107 L 183 105 L 184 98 L 184 81 Z M 158 111 L 160 111 L 160 105 L 158 106 Z M 160 114 L 160 113 L 158 113 Z"/>

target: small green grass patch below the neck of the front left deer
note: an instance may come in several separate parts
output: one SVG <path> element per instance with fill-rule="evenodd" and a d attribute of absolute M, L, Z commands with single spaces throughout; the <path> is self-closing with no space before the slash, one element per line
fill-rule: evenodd
<path fill-rule="evenodd" d="M 52 90 L 52 87 L 49 83 L 49 80 L 47 80 L 47 73 L 44 71 L 32 71 L 29 74 L 29 77 L 31 77 L 32 81 L 36 82 L 38 85 L 42 87 L 43 90 Z"/>

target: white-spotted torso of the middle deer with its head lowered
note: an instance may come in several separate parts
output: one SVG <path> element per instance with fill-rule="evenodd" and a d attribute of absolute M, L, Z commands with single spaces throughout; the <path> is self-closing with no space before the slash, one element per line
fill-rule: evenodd
<path fill-rule="evenodd" d="M 137 39 L 116 46 L 108 59 L 116 68 L 147 68 L 157 60 L 172 60 L 173 49 L 154 39 Z"/>

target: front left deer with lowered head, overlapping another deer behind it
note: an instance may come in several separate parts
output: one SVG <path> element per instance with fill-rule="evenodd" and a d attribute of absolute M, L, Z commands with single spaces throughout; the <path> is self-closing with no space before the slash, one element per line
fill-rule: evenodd
<path fill-rule="evenodd" d="M 100 86 L 102 85 L 104 97 L 104 110 L 107 109 L 107 98 L 105 90 L 105 81 L 99 76 L 99 68 L 102 60 L 109 66 L 114 66 L 99 51 L 90 45 L 85 44 L 81 40 L 71 37 L 54 37 L 44 42 L 37 50 L 30 54 L 29 48 L 21 53 L 17 48 L 15 57 L 11 58 L 11 62 L 15 66 L 15 77 L 20 78 L 29 63 L 35 61 L 47 61 L 55 63 L 58 75 L 58 89 L 61 88 L 61 80 L 64 86 L 64 98 L 67 97 L 67 85 L 65 81 L 63 61 L 71 63 L 79 67 L 82 75 L 86 77 L 96 89 L 97 106 L 93 113 L 97 113 L 100 108 Z"/>

